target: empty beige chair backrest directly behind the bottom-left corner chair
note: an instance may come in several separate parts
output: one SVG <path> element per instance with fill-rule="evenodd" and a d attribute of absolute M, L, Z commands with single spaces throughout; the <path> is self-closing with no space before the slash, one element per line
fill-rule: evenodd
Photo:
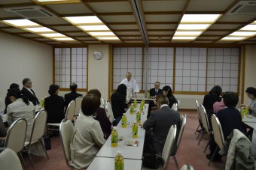
<path fill-rule="evenodd" d="M 26 128 L 27 123 L 25 119 L 19 118 L 14 121 L 8 129 L 5 148 L 10 148 L 16 153 L 22 151 L 26 139 Z"/>

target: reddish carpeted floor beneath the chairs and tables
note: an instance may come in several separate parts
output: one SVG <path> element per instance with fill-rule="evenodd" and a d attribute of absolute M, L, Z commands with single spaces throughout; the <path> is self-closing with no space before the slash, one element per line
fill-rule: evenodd
<path fill-rule="evenodd" d="M 181 139 L 181 144 L 178 148 L 178 152 L 176 154 L 176 159 L 178 160 L 178 166 L 181 168 L 183 164 L 190 164 L 194 167 L 195 170 L 215 170 L 215 169 L 224 169 L 223 163 L 212 163 L 210 166 L 207 166 L 209 160 L 206 159 L 206 154 L 209 153 L 209 148 L 206 153 L 203 153 L 204 148 L 209 142 L 209 136 L 205 136 L 202 139 L 200 145 L 197 145 L 197 135 L 194 134 L 197 126 L 198 119 L 196 112 L 187 112 L 181 111 L 181 114 L 187 115 L 187 124 L 184 128 L 183 137 Z M 54 169 L 54 170 L 65 170 L 69 169 L 66 166 L 66 160 L 64 159 L 62 152 L 62 145 L 59 137 L 53 137 L 51 139 L 52 149 L 47 151 L 50 160 L 47 160 L 46 157 L 35 157 L 32 156 L 32 160 L 35 163 L 36 169 Z M 28 157 L 25 157 L 25 164 L 27 169 L 32 169 L 32 165 L 29 162 Z M 175 163 L 171 158 L 168 163 L 168 170 L 176 169 Z M 107 170 L 107 169 L 102 169 Z M 131 169 L 132 170 L 132 169 Z"/>

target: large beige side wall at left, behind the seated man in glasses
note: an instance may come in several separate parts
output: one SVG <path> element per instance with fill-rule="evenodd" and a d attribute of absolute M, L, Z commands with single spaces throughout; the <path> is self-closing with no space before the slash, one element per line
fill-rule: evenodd
<path fill-rule="evenodd" d="M 15 82 L 23 87 L 23 78 L 32 79 L 38 97 L 47 95 L 53 79 L 52 47 L 32 40 L 0 33 L 0 98 Z"/>

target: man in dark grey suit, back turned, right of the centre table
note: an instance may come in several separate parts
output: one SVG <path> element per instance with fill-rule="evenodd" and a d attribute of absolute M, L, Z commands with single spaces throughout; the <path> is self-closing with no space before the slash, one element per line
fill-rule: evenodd
<path fill-rule="evenodd" d="M 143 128 L 146 130 L 145 152 L 161 154 L 169 128 L 175 124 L 179 130 L 181 123 L 179 113 L 170 109 L 168 103 L 166 96 L 163 94 L 158 95 L 158 110 L 151 113 L 150 117 L 143 124 Z"/>

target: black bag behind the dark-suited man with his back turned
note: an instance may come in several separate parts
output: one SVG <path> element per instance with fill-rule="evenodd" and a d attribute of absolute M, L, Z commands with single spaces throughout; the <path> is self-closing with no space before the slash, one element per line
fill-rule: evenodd
<path fill-rule="evenodd" d="M 142 164 L 150 169 L 158 169 L 163 165 L 163 158 L 159 154 L 145 153 Z"/>

